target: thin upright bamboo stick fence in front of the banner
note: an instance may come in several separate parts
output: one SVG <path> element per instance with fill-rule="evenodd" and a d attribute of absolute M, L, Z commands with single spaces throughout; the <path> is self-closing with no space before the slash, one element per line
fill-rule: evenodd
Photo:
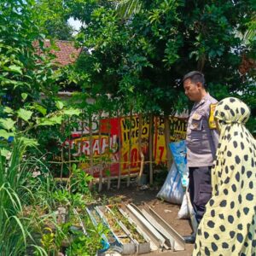
<path fill-rule="evenodd" d="M 118 118 L 118 120 L 121 119 L 121 112 L 118 111 L 118 113 L 116 114 L 116 118 Z M 110 172 L 110 166 L 111 166 L 111 148 L 110 148 L 110 140 L 111 140 L 111 124 L 110 124 L 110 119 L 112 118 L 112 113 L 108 113 L 108 156 L 107 156 L 107 160 L 104 158 L 102 158 L 102 120 L 104 118 L 106 118 L 106 113 L 105 116 L 103 117 L 103 112 L 99 111 L 96 115 L 96 119 L 93 119 L 93 115 L 89 114 L 88 118 L 88 122 L 86 122 L 84 120 L 84 115 L 83 115 L 83 119 L 80 120 L 81 123 L 81 142 L 79 143 L 79 156 L 82 157 L 83 156 L 83 137 L 84 136 L 89 136 L 89 143 L 90 143 L 90 149 L 89 149 L 89 160 L 88 158 L 85 158 L 85 161 L 87 161 L 88 166 L 90 166 L 89 170 L 90 170 L 90 175 L 93 176 L 94 175 L 94 167 L 97 167 L 97 170 L 99 172 L 99 177 L 94 179 L 94 183 L 98 183 L 98 191 L 102 191 L 102 185 L 103 183 L 105 183 L 107 181 L 107 188 L 110 189 L 111 187 L 111 180 L 112 179 L 117 179 L 118 183 L 117 183 L 117 188 L 120 189 L 121 188 L 121 180 L 123 178 L 126 179 L 126 186 L 130 186 L 131 185 L 131 177 L 137 177 L 137 184 L 141 184 L 141 178 L 143 175 L 143 169 L 145 165 L 149 166 L 149 183 L 152 184 L 154 182 L 154 129 L 156 126 L 156 122 L 157 119 L 154 117 L 153 114 L 149 114 L 149 124 L 148 124 L 148 148 L 149 148 L 149 159 L 145 160 L 145 156 L 143 154 L 143 149 L 142 149 L 142 134 L 143 134 L 143 120 L 145 120 L 145 116 L 143 116 L 142 113 L 138 114 L 138 138 L 137 138 L 137 147 L 138 147 L 138 152 L 137 152 L 137 161 L 139 163 L 139 168 L 138 168 L 138 172 L 137 173 L 131 173 L 131 147 L 132 147 L 132 141 L 131 141 L 131 121 L 132 121 L 132 107 L 131 107 L 131 111 L 129 114 L 129 146 L 128 146 L 128 159 L 127 161 L 125 161 L 123 159 L 123 156 L 121 154 L 119 154 L 119 160 L 118 160 L 118 175 L 112 177 L 111 176 L 111 172 Z M 92 129 L 92 124 L 93 122 L 97 122 L 97 127 L 98 127 L 98 131 L 96 132 L 96 135 L 98 137 L 99 140 L 99 157 L 97 158 L 97 160 L 94 160 L 94 153 L 93 153 L 93 136 L 94 136 L 94 132 Z M 64 131 L 65 129 L 65 125 L 70 125 L 71 120 L 68 119 L 66 123 L 63 123 L 61 125 L 61 132 Z M 170 143 L 170 129 L 169 129 L 169 117 L 165 116 L 164 117 L 164 122 L 165 122 L 165 129 L 164 129 L 164 137 L 165 137 L 165 141 L 166 141 L 166 165 L 168 167 L 168 170 L 170 170 L 170 166 L 171 166 L 171 162 L 172 162 L 172 155 L 171 155 L 171 151 L 169 149 L 169 143 Z M 88 124 L 87 130 L 86 131 L 86 127 L 85 125 Z M 121 152 L 121 125 L 118 125 L 118 141 L 117 141 L 117 147 L 119 148 L 119 152 Z M 85 132 L 84 132 L 85 131 Z M 71 137 L 71 133 L 68 136 L 68 148 L 67 148 L 67 152 L 68 152 L 68 157 L 67 160 L 64 156 L 64 149 L 65 147 L 61 147 L 61 160 L 60 161 L 49 161 L 50 164 L 55 164 L 55 165 L 60 165 L 61 167 L 61 175 L 60 178 L 61 180 L 63 180 L 63 169 L 64 169 L 64 165 L 68 166 L 68 176 L 71 175 L 72 173 L 72 164 L 73 163 L 80 163 L 80 160 L 76 160 L 73 159 L 73 153 L 72 153 L 72 137 Z M 127 170 L 127 174 L 123 175 L 121 172 L 121 166 L 126 164 L 128 166 L 128 170 Z M 104 173 L 105 175 L 103 175 L 103 172 L 108 170 L 108 175 L 106 175 L 106 173 Z M 90 188 L 92 186 L 93 183 L 90 183 Z"/>

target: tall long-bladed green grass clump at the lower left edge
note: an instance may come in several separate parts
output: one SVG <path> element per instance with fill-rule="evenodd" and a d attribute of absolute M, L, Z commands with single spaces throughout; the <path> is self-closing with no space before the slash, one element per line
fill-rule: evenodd
<path fill-rule="evenodd" d="M 31 220 L 22 217 L 21 184 L 26 178 L 22 168 L 26 147 L 33 140 L 15 137 L 11 152 L 0 149 L 0 252 L 3 256 L 26 255 L 27 238 L 32 237 Z M 6 152 L 6 151 L 5 151 Z"/>

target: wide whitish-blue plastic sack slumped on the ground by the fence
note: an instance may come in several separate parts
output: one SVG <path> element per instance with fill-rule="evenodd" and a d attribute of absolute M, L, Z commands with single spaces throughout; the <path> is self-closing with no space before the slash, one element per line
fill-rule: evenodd
<path fill-rule="evenodd" d="M 181 183 L 181 176 L 177 171 L 175 163 L 172 163 L 172 167 L 166 177 L 166 181 L 156 197 L 173 204 L 181 205 L 183 195 L 184 191 Z"/>

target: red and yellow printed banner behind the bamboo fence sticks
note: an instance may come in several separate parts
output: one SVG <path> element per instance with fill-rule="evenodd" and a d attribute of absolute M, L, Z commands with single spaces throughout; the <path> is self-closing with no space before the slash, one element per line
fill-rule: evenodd
<path fill-rule="evenodd" d="M 131 124 L 131 125 L 130 125 Z M 149 119 L 143 118 L 141 148 L 145 162 L 149 160 L 148 153 L 148 124 Z M 177 141 L 185 138 L 186 119 L 170 117 L 170 140 Z M 72 139 L 67 140 L 73 150 L 73 158 L 80 160 L 80 168 L 94 177 L 115 177 L 129 172 L 139 172 L 141 157 L 139 153 L 139 117 L 102 119 L 98 124 L 92 122 L 91 138 L 90 129 L 85 125 L 72 132 Z M 154 119 L 154 163 L 166 163 L 166 143 L 164 136 L 164 119 Z M 101 134 L 101 135 L 100 135 Z M 90 145 L 91 144 L 91 145 Z M 90 156 L 90 151 L 92 155 Z M 90 160 L 92 159 L 92 160 Z M 91 165 L 92 161 L 92 167 Z"/>

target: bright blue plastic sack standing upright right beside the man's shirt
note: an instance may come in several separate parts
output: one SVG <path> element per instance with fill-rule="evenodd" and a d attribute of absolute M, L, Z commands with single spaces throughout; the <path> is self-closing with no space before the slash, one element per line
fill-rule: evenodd
<path fill-rule="evenodd" d="M 187 148 L 185 141 L 179 141 L 177 143 L 170 143 L 169 147 L 172 152 L 173 160 L 177 166 L 177 171 L 182 177 L 183 187 L 187 187 L 189 184 L 189 168 L 187 166 Z"/>

